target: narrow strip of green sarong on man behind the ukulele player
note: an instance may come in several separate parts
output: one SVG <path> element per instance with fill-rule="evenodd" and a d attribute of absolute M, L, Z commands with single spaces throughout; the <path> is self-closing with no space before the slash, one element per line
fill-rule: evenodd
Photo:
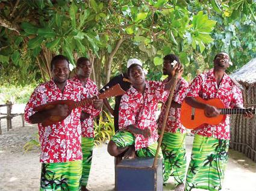
<path fill-rule="evenodd" d="M 83 171 L 81 177 L 81 185 L 83 186 L 87 186 L 90 174 L 90 168 L 92 165 L 93 141 L 94 138 L 82 137 Z"/>

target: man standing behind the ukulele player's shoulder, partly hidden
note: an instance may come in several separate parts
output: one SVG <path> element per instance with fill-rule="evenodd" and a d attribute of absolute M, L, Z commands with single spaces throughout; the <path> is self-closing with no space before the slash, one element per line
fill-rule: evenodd
<path fill-rule="evenodd" d="M 73 80 L 83 87 L 81 99 L 87 99 L 98 95 L 98 88 L 89 77 L 92 71 L 92 64 L 88 58 L 81 57 L 76 61 L 76 76 Z M 82 128 L 82 151 L 83 151 L 83 171 L 81 177 L 81 190 L 86 191 L 87 181 L 92 164 L 93 142 L 94 142 L 94 121 L 93 117 L 99 115 L 102 107 L 102 100 L 93 100 L 93 103 L 87 104 L 81 113 Z"/>

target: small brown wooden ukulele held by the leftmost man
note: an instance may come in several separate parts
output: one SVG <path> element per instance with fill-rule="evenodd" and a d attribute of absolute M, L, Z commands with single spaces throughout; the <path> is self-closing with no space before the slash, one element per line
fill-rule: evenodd
<path fill-rule="evenodd" d="M 72 109 L 79 108 L 82 106 L 85 106 L 87 103 L 91 103 L 95 99 L 105 99 L 111 96 L 121 96 L 125 93 L 125 91 L 120 87 L 119 84 L 112 86 L 111 88 L 107 89 L 106 91 L 102 92 L 98 96 L 91 97 L 89 99 L 81 100 L 81 102 L 75 102 L 73 100 L 56 100 L 54 102 L 46 103 L 45 105 L 37 106 L 33 109 L 33 111 L 46 111 L 48 109 L 54 108 L 56 105 L 67 105 L 69 108 L 69 111 L 66 116 L 50 116 L 48 120 L 45 120 L 42 125 L 43 126 L 50 126 L 54 123 L 57 123 L 59 121 L 63 121 L 66 119 L 67 116 L 70 115 Z"/>

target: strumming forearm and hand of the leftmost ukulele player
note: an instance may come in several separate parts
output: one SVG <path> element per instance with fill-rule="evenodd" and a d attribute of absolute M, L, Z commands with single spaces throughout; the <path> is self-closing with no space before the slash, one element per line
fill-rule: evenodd
<path fill-rule="evenodd" d="M 48 120 L 49 117 L 54 115 L 58 115 L 61 117 L 67 116 L 68 112 L 69 112 L 69 108 L 67 105 L 56 105 L 52 109 L 49 109 L 46 111 L 39 111 L 31 115 L 30 121 L 32 124 L 43 123 L 45 120 Z"/>

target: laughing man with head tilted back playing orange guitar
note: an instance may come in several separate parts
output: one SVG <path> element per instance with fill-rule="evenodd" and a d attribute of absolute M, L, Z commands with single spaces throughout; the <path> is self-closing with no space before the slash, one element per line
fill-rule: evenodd
<path fill-rule="evenodd" d="M 225 52 L 218 53 L 214 58 L 214 68 L 207 73 L 197 76 L 189 86 L 186 102 L 194 108 L 204 109 L 205 115 L 215 117 L 220 114 L 214 106 L 195 100 L 201 97 L 205 100 L 218 98 L 226 108 L 243 108 L 242 92 L 233 80 L 225 73 L 229 67 L 229 55 Z M 252 118 L 251 113 L 245 117 Z M 186 190 L 193 188 L 220 190 L 226 162 L 228 160 L 229 146 L 229 116 L 217 125 L 202 124 L 193 130 L 195 139 L 189 170 L 186 178 Z"/>

